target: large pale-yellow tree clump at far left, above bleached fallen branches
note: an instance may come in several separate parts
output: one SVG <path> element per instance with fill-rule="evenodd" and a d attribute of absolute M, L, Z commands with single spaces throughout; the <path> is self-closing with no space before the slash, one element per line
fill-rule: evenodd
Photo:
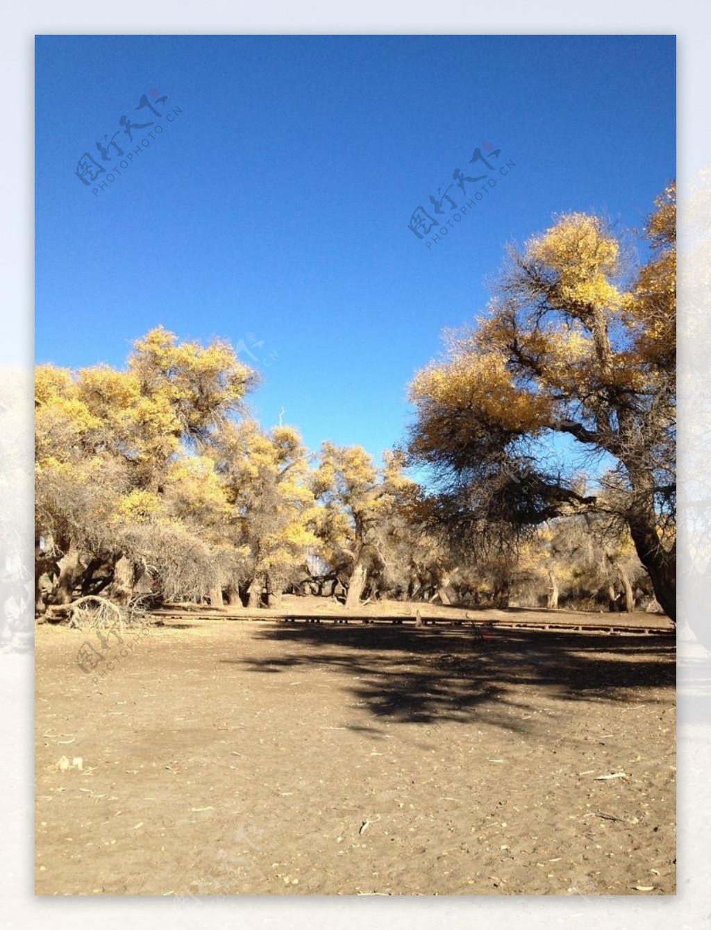
<path fill-rule="evenodd" d="M 162 326 L 134 343 L 122 371 L 37 366 L 40 609 L 104 591 L 126 601 L 141 571 L 170 596 L 214 592 L 234 553 L 206 452 L 255 380 L 229 344 L 181 342 Z"/>

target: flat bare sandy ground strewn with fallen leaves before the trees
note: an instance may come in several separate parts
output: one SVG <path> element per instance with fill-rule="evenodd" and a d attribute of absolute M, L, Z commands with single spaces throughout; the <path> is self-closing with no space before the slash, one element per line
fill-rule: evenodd
<path fill-rule="evenodd" d="M 102 649 L 42 626 L 36 893 L 674 894 L 675 644 L 210 618 Z"/>

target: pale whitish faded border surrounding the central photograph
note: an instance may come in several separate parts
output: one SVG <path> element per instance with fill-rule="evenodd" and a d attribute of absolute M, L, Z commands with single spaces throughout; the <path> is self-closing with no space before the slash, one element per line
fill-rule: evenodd
<path fill-rule="evenodd" d="M 410 0 L 361 0 L 353 7 L 334 3 L 289 4 L 287 0 L 216 2 L 184 0 L 170 5 L 155 0 L 124 0 L 121 4 L 99 5 L 86 0 L 29 2 L 3 12 L 0 29 L 0 69 L 3 83 L 12 92 L 3 101 L 6 144 L 0 152 L 4 170 L 2 249 L 7 259 L 5 283 L 4 339 L 0 340 L 0 390 L 3 382 L 21 385 L 27 403 L 19 405 L 19 445 L 31 442 L 30 386 L 33 367 L 33 148 L 34 148 L 34 34 L 35 33 L 664 33 L 677 34 L 678 127 L 681 145 L 677 178 L 681 203 L 689 196 L 694 179 L 711 165 L 711 120 L 708 118 L 708 88 L 711 86 L 711 54 L 708 48 L 709 9 L 698 3 L 677 0 L 675 4 L 653 0 L 644 7 L 627 0 L 598 0 L 594 7 L 574 7 L 562 0 L 540 0 L 530 4 L 509 0 L 505 5 L 457 3 L 439 0 L 425 3 Z M 650 88 L 653 93 L 653 88 Z M 689 211 L 680 206 L 680 239 Z M 679 332 L 680 395 L 682 431 L 679 471 L 682 491 L 685 476 L 703 474 L 706 437 L 711 436 L 711 417 L 699 386 L 707 383 L 704 364 L 709 346 L 708 304 L 711 268 L 708 240 L 711 210 L 706 211 L 706 228 L 699 239 L 680 248 L 684 266 L 680 284 L 691 287 L 685 305 L 685 287 L 680 286 L 682 306 Z M 684 264 L 686 262 L 686 264 Z M 694 278 L 694 269 L 699 277 Z M 687 276 L 684 277 L 684 274 Z M 705 279 L 705 280 L 704 280 Z M 7 379 L 7 380 L 6 380 Z M 14 441 L 14 440 L 13 440 Z M 10 437 L 0 435 L 0 450 L 7 453 Z M 17 529 L 26 534 L 28 565 L 32 517 L 32 468 L 17 472 L 14 484 L 0 486 L 0 508 L 20 501 L 27 520 Z M 704 478 L 702 485 L 711 484 Z M 711 493 L 708 495 L 711 499 Z M 2 499 L 5 498 L 5 499 Z M 682 493 L 682 506 L 684 495 Z M 17 506 L 17 504 L 15 505 Z M 691 503 L 687 502 L 687 507 Z M 691 530 L 689 531 L 691 534 Z M 709 534 L 696 527 L 691 540 L 708 545 Z M 215 902 L 198 911 L 176 913 L 168 899 L 158 897 L 111 898 L 34 897 L 34 796 L 32 777 L 34 701 L 33 656 L 0 656 L 0 739 L 4 764 L 0 778 L 0 804 L 5 829 L 0 840 L 0 901 L 7 928 L 31 925 L 52 930 L 74 928 L 87 920 L 101 922 L 103 930 L 121 928 L 127 920 L 139 927 L 168 920 L 171 926 L 192 927 L 195 917 L 206 926 L 279 926 L 311 928 L 337 924 L 342 930 L 361 923 L 388 930 L 419 930 L 443 926 L 448 930 L 477 925 L 489 926 L 515 920 L 525 927 L 549 928 L 552 924 L 577 927 L 604 925 L 610 930 L 676 925 L 695 928 L 707 920 L 709 887 L 706 864 L 711 861 L 711 787 L 704 777 L 711 756 L 711 663 L 695 635 L 708 642 L 709 619 L 704 604 L 711 603 L 711 582 L 702 581 L 697 590 L 686 585 L 680 561 L 680 602 L 686 608 L 687 625 L 680 629 L 678 665 L 678 890 L 677 897 L 237 897 Z M 686 585 L 686 587 L 685 587 Z"/>

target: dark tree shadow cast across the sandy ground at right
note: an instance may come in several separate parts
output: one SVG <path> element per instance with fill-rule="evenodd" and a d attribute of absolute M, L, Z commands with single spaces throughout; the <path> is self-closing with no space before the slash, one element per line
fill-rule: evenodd
<path fill-rule="evenodd" d="M 626 702 L 651 687 L 669 689 L 670 705 L 675 697 L 676 641 L 669 635 L 516 630 L 490 631 L 482 641 L 466 629 L 375 625 L 271 627 L 256 635 L 283 644 L 287 654 L 222 661 L 272 675 L 309 667 L 341 672 L 343 686 L 382 722 L 466 723 L 485 707 L 487 723 L 528 732 L 522 686 L 571 701 Z"/>

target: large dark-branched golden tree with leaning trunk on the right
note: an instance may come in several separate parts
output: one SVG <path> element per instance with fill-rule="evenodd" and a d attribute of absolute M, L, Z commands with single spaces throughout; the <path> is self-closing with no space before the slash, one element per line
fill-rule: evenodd
<path fill-rule="evenodd" d="M 441 519 L 460 538 L 615 518 L 676 619 L 674 184 L 645 233 L 637 268 L 620 237 L 580 213 L 512 249 L 488 315 L 412 382 L 409 455 L 430 466 Z M 567 471 L 545 465 L 552 434 L 567 437 Z M 581 490 L 585 470 L 598 493 Z"/>

